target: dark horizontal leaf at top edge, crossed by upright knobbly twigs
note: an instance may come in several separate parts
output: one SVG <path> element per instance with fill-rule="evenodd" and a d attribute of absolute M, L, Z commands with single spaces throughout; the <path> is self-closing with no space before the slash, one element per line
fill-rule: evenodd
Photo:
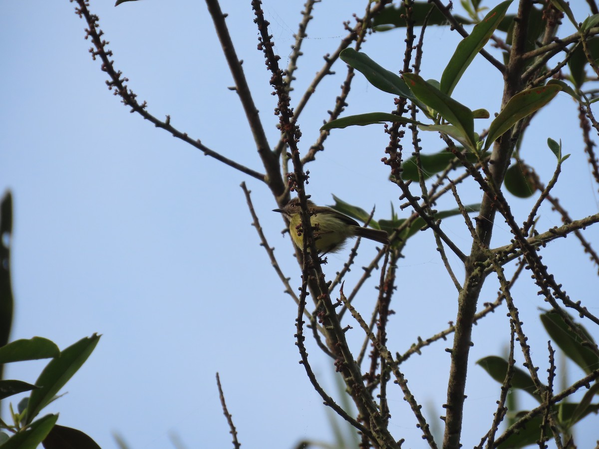
<path fill-rule="evenodd" d="M 424 19 L 428 14 L 432 5 L 425 1 L 414 2 L 410 8 L 412 8 L 412 20 L 416 23 L 414 26 L 424 25 Z M 383 8 L 380 14 L 374 16 L 373 26 L 377 31 L 387 31 L 388 29 L 400 28 L 406 26 L 406 7 L 403 3 L 398 5 L 388 5 Z M 470 25 L 473 23 L 470 19 L 465 17 L 454 15 L 455 19 L 462 25 Z M 449 25 L 446 17 L 438 10 L 434 8 L 431 15 L 428 18 L 428 25 Z"/>

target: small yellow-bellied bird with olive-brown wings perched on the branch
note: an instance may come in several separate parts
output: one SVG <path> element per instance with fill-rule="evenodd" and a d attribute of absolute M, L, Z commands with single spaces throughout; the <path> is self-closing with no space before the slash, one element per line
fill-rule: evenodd
<path fill-rule="evenodd" d="M 389 235 L 384 230 L 362 227 L 356 220 L 337 212 L 330 207 L 317 206 L 306 200 L 313 227 L 314 244 L 319 253 L 336 253 L 340 251 L 346 240 L 353 237 L 364 237 L 384 245 L 389 244 Z M 280 209 L 273 209 L 289 220 L 289 233 L 298 248 L 304 247 L 301 232 L 301 206 L 299 198 L 294 198 Z"/>

